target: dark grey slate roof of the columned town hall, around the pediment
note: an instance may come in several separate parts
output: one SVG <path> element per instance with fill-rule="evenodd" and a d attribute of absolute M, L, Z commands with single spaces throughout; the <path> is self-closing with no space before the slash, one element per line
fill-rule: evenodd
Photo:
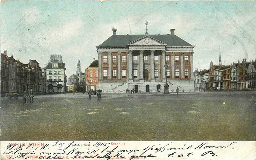
<path fill-rule="evenodd" d="M 99 47 L 124 47 L 127 46 L 128 43 L 137 40 L 141 37 L 144 37 L 145 34 L 138 35 L 112 35 L 107 40 L 105 40 Z M 166 46 L 192 46 L 187 43 L 185 40 L 179 38 L 175 34 L 149 34 L 148 36 L 153 37 L 159 41 L 166 43 Z"/>

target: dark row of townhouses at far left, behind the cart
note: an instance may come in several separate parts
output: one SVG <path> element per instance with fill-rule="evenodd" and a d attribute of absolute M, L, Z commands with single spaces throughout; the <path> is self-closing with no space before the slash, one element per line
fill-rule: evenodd
<path fill-rule="evenodd" d="M 7 50 L 1 53 L 1 94 L 23 93 L 33 90 L 42 91 L 42 70 L 36 60 L 29 60 L 23 64 L 17 59 L 7 55 Z"/>

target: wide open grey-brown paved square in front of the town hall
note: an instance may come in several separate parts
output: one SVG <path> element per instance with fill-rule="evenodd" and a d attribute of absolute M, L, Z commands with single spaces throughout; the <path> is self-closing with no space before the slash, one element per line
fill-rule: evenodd
<path fill-rule="evenodd" d="M 1 140 L 255 141 L 256 92 L 1 98 Z"/>

